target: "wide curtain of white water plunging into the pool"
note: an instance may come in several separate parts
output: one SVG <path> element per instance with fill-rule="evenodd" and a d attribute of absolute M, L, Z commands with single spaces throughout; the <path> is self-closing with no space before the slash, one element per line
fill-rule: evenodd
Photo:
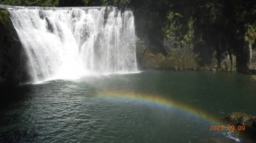
<path fill-rule="evenodd" d="M 34 81 L 137 71 L 132 11 L 114 7 L 16 9 L 9 12 Z"/>

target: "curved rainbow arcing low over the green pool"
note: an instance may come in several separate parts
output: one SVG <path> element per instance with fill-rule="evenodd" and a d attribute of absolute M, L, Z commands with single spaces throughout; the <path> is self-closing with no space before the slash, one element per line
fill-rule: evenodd
<path fill-rule="evenodd" d="M 198 116 L 207 120 L 212 123 L 212 125 L 223 125 L 224 120 L 217 119 L 212 115 L 207 114 L 202 109 L 197 109 L 195 107 L 189 106 L 187 104 L 183 104 L 169 98 L 164 98 L 159 95 L 149 95 L 149 94 L 140 94 L 140 93 L 133 93 L 133 92 L 119 92 L 119 91 L 100 91 L 97 92 L 98 96 L 105 96 L 108 98 L 121 98 L 121 99 L 128 99 L 128 100 L 136 100 L 142 101 L 145 103 L 157 104 L 160 106 L 165 107 L 172 107 L 176 109 L 180 109 L 184 112 L 189 114 Z"/>

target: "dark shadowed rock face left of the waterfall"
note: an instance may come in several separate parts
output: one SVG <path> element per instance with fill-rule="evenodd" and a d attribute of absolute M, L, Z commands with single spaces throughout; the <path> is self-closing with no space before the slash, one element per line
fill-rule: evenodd
<path fill-rule="evenodd" d="M 6 9 L 0 9 L 0 85 L 26 80 L 22 45 Z"/>

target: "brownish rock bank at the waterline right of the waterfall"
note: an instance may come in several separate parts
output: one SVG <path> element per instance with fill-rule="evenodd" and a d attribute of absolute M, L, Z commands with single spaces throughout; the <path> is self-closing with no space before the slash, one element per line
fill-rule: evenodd
<path fill-rule="evenodd" d="M 141 69 L 236 71 L 233 54 L 220 56 L 215 50 L 195 51 L 187 45 L 174 48 L 167 40 L 137 43 L 137 62 Z"/>

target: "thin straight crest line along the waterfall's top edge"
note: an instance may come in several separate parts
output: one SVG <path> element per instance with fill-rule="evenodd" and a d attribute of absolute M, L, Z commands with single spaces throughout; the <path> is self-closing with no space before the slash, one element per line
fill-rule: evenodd
<path fill-rule="evenodd" d="M 6 8 L 10 10 L 19 10 L 19 9 L 39 9 L 39 10 L 59 10 L 59 9 L 67 9 L 71 10 L 73 8 L 79 8 L 83 10 L 87 9 L 101 9 L 104 6 L 86 6 L 86 7 L 44 7 L 44 6 L 10 6 L 10 5 L 1 5 L 0 8 Z"/>

